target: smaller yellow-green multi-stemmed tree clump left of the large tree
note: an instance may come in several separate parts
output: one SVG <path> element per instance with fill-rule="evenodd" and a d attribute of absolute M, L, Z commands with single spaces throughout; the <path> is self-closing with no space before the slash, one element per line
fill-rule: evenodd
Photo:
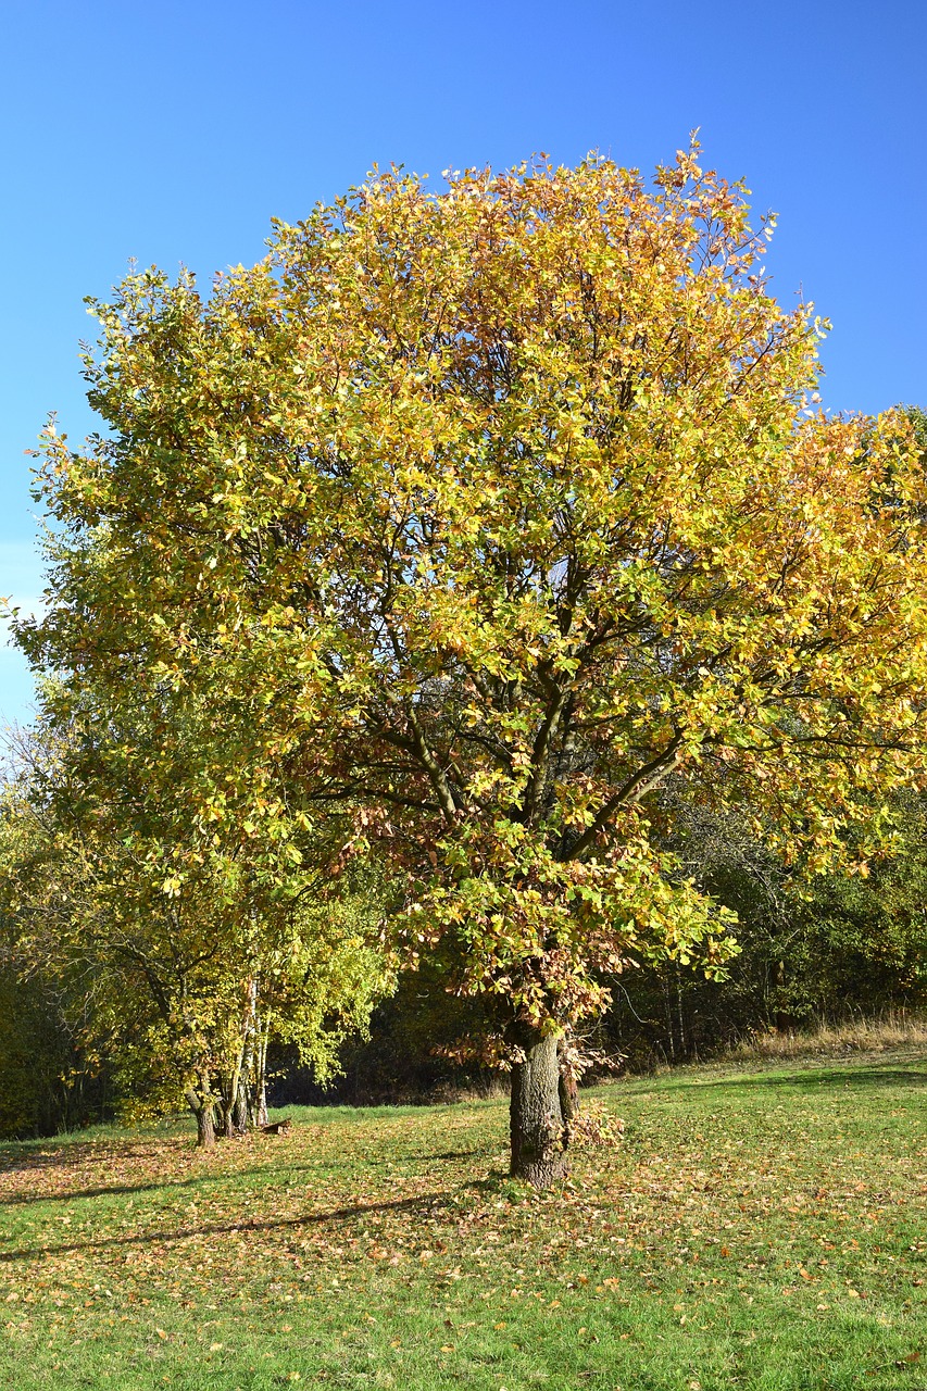
<path fill-rule="evenodd" d="M 281 885 L 267 857 L 184 836 L 175 801 L 114 779 L 139 743 L 121 733 L 111 758 L 77 725 L 22 741 L 0 800 L 4 935 L 26 999 L 63 1002 L 72 1049 L 107 1060 L 122 1109 L 182 1097 L 210 1148 L 217 1124 L 266 1121 L 270 1042 L 324 1081 L 366 1027 L 391 983 L 381 885 L 372 871 L 330 892 L 292 871 Z"/>

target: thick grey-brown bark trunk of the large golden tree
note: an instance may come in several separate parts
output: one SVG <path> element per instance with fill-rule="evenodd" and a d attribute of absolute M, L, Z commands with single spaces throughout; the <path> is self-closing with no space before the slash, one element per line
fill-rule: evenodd
<path fill-rule="evenodd" d="M 550 1188 L 558 1178 L 566 1177 L 558 1036 L 516 1024 L 508 1031 L 508 1040 L 525 1054 L 523 1063 L 512 1066 L 511 1174 L 528 1180 L 534 1188 Z"/>

